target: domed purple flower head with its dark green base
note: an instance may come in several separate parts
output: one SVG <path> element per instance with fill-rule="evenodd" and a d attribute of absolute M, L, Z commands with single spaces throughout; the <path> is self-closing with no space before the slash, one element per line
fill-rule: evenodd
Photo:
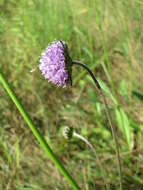
<path fill-rule="evenodd" d="M 65 87 L 71 82 L 71 65 L 66 43 L 54 41 L 42 53 L 39 69 L 49 82 Z"/>

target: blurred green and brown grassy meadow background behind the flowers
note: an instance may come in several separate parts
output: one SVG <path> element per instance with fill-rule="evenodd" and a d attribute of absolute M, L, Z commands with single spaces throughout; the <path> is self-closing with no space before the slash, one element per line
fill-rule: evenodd
<path fill-rule="evenodd" d="M 118 189 L 115 147 L 104 105 L 87 73 L 73 67 L 72 88 L 57 88 L 37 67 L 49 42 L 68 43 L 106 95 L 120 145 L 126 190 L 143 189 L 143 1 L 0 0 L 0 67 L 35 125 L 82 190 L 104 190 L 95 146 L 111 189 Z M 70 190 L 0 86 L 0 190 Z"/>

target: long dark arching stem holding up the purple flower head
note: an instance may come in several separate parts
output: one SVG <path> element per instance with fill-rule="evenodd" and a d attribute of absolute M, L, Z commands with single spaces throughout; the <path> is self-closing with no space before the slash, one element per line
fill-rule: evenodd
<path fill-rule="evenodd" d="M 101 95 L 101 97 L 103 99 L 103 102 L 104 102 L 104 105 L 105 105 L 105 112 L 106 112 L 106 115 L 107 115 L 107 119 L 108 119 L 108 122 L 109 122 L 109 125 L 110 125 L 110 128 L 111 128 L 112 136 L 113 136 L 114 143 L 115 143 L 116 157 L 117 157 L 119 177 L 120 177 L 120 190 L 123 190 L 123 187 L 122 187 L 121 161 L 120 161 L 120 154 L 119 154 L 119 145 L 118 145 L 118 141 L 117 141 L 117 136 L 116 136 L 115 128 L 113 127 L 113 124 L 112 124 L 112 118 L 111 118 L 111 114 L 110 114 L 110 111 L 109 111 L 109 108 L 108 108 L 108 104 L 107 104 L 105 95 L 103 94 L 103 91 L 101 89 L 101 86 L 100 86 L 99 82 L 97 81 L 97 79 L 95 78 L 94 74 L 88 68 L 87 65 L 81 63 L 80 61 L 73 61 L 72 63 L 74 65 L 79 65 L 79 66 L 83 67 L 84 69 L 86 69 L 88 71 L 88 73 L 90 74 L 90 76 L 92 77 L 93 81 L 95 82 L 95 84 L 97 86 L 99 94 Z"/>

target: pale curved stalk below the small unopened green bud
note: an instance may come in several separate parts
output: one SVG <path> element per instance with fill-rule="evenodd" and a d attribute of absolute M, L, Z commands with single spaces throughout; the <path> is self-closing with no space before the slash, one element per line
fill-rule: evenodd
<path fill-rule="evenodd" d="M 82 141 L 84 141 L 89 147 L 90 149 L 92 150 L 92 152 L 94 153 L 95 157 L 96 157 L 96 160 L 97 160 L 97 163 L 98 163 L 98 166 L 101 170 L 101 174 L 102 174 L 102 178 L 104 180 L 104 184 L 106 186 L 106 189 L 109 190 L 109 185 L 107 183 L 107 180 L 106 180 L 106 177 L 105 177 L 105 172 L 104 172 L 104 169 L 102 167 L 102 164 L 100 162 L 100 159 L 98 158 L 97 156 L 97 153 L 96 153 L 96 149 L 93 147 L 93 145 L 86 139 L 84 138 L 83 136 L 81 136 L 80 134 L 76 133 L 76 132 L 73 132 L 73 137 L 76 137 L 78 139 L 81 139 Z"/>

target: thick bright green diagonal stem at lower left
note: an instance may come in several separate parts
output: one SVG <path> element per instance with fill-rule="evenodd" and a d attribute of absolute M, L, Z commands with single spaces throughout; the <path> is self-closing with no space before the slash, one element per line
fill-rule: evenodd
<path fill-rule="evenodd" d="M 46 155 L 53 161 L 53 163 L 56 165 L 56 167 L 61 172 L 61 174 L 63 174 L 63 176 L 67 179 L 68 183 L 72 186 L 72 188 L 74 190 L 80 190 L 79 186 L 72 179 L 72 177 L 67 172 L 67 170 L 64 168 L 64 166 L 62 165 L 62 163 L 56 158 L 55 154 L 53 153 L 53 151 L 50 148 L 50 146 L 47 144 L 47 142 L 44 139 L 44 137 L 40 134 L 40 132 L 38 131 L 38 129 L 33 124 L 32 120 L 30 119 L 30 117 L 28 116 L 28 114 L 26 113 L 26 111 L 24 110 L 22 104 L 20 103 L 20 101 L 18 100 L 17 96 L 13 92 L 12 88 L 10 87 L 8 81 L 6 80 L 4 74 L 1 72 L 1 70 L 0 70 L 0 82 L 2 83 L 3 87 L 7 91 L 8 95 L 10 96 L 10 98 L 12 99 L 12 101 L 14 102 L 14 104 L 16 105 L 17 109 L 19 110 L 20 114 L 22 115 L 22 117 L 26 121 L 27 125 L 29 126 L 29 128 L 33 132 L 34 136 L 39 141 L 39 143 L 40 143 L 41 147 L 43 148 L 43 150 L 45 151 Z"/>

